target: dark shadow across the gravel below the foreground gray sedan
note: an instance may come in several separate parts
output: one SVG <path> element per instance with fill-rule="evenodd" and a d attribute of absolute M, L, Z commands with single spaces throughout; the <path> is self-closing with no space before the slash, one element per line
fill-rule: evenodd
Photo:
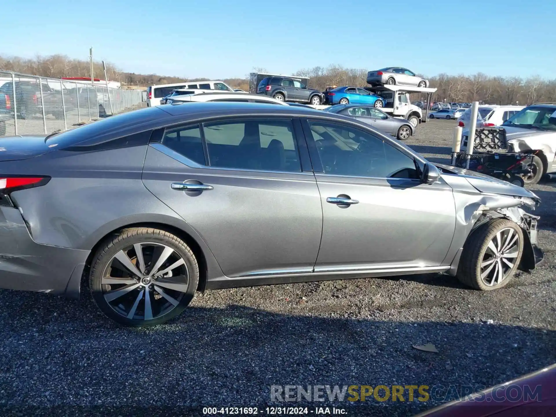
<path fill-rule="evenodd" d="M 3 290 L 0 320 L 4 407 L 83 405 L 101 414 L 126 405 L 182 406 L 192 415 L 199 406 L 334 405 L 353 415 L 411 415 L 438 403 L 379 403 L 372 396 L 270 403 L 270 385 L 492 386 L 556 361 L 552 330 L 419 317 L 193 306 L 166 325 L 131 329 L 107 320 L 89 297 L 73 303 Z M 439 353 L 412 347 L 428 342 Z"/>

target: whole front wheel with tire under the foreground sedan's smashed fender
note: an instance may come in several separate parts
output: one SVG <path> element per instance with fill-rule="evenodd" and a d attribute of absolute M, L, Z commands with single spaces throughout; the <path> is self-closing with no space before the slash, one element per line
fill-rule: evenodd
<path fill-rule="evenodd" d="M 512 279 L 523 253 L 523 230 L 515 222 L 495 219 L 471 232 L 456 274 L 476 290 L 502 288 Z"/>

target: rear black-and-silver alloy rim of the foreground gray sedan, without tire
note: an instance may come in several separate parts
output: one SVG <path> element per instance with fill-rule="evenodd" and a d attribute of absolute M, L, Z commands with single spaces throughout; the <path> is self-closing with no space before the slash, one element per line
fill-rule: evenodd
<path fill-rule="evenodd" d="M 169 246 L 142 242 L 125 247 L 102 273 L 102 295 L 117 314 L 153 320 L 180 304 L 189 285 L 185 260 Z"/>

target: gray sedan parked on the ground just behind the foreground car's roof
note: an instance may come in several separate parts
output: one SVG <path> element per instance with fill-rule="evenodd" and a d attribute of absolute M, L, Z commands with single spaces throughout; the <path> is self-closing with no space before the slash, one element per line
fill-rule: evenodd
<path fill-rule="evenodd" d="M 385 112 L 371 106 L 336 105 L 326 109 L 327 112 L 353 117 L 361 122 L 369 123 L 374 128 L 405 141 L 415 135 L 415 127 L 409 120 L 388 116 Z"/>

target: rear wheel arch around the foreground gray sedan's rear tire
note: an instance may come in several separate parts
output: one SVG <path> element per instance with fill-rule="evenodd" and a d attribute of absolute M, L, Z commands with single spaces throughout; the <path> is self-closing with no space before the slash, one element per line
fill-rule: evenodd
<path fill-rule="evenodd" d="M 83 286 L 83 280 L 86 280 L 88 277 L 88 271 L 93 256 L 95 256 L 96 251 L 103 244 L 103 242 L 105 242 L 112 235 L 120 234 L 123 230 L 132 229 L 134 227 L 151 227 L 152 229 L 160 229 L 169 232 L 183 240 L 187 246 L 191 248 L 199 264 L 199 282 L 197 291 L 205 291 L 209 276 L 223 275 L 220 265 L 209 249 L 209 246 L 207 246 L 197 231 L 187 222 L 165 215 L 147 216 L 143 218 L 141 216 L 133 217 L 136 218 L 121 219 L 120 221 L 110 222 L 106 225 L 107 227 L 102 227 L 101 230 L 98 230 L 90 237 L 90 239 L 87 240 L 87 245 L 91 252 L 87 257 L 85 269 L 83 270 L 83 274 L 80 279 L 81 285 L 76 282 L 73 284 L 70 282 L 68 283 L 68 289 L 70 287 L 75 289 L 75 286 L 77 285 L 80 290 L 80 287 Z M 76 278 L 72 276 L 72 279 Z"/>

